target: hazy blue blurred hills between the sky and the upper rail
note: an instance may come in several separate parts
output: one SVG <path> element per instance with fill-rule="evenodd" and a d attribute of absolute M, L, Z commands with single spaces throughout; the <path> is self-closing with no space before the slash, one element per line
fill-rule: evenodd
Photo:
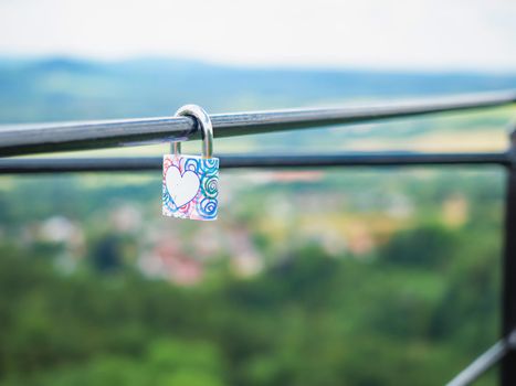
<path fill-rule="evenodd" d="M 191 101 L 223 112 L 515 87 L 514 74 L 240 68 L 152 57 L 0 58 L 0 122 L 164 116 Z"/>

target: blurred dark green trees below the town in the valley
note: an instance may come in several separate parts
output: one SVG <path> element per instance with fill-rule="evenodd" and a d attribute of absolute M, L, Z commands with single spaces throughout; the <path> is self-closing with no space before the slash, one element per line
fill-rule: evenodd
<path fill-rule="evenodd" d="M 496 339 L 496 242 L 467 238 L 421 225 L 366 260 L 314 244 L 249 279 L 219 260 L 189 288 L 4 244 L 0 385 L 443 384 Z"/>

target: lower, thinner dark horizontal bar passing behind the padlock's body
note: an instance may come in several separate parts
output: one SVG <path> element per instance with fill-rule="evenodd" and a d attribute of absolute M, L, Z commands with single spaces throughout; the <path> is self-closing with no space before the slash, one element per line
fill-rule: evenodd
<path fill-rule="evenodd" d="M 322 168 L 322 167 L 414 167 L 509 163 L 508 153 L 347 153 L 296 156 L 220 156 L 220 167 Z M 158 171 L 161 157 L 143 158 L 10 158 L 0 160 L 0 174 L 59 172 Z"/>

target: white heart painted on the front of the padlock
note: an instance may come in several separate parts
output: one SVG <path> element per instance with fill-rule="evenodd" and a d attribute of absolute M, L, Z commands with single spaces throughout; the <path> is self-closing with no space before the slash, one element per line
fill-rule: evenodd
<path fill-rule="evenodd" d="M 192 201 L 201 185 L 199 176 L 194 172 L 187 170 L 181 175 L 181 172 L 175 165 L 168 168 L 165 183 L 168 194 L 170 194 L 177 207 L 181 207 Z"/>

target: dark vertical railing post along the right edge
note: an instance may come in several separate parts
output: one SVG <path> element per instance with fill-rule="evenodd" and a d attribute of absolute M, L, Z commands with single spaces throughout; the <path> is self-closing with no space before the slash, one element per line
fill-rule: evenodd
<path fill-rule="evenodd" d="M 502 336 L 508 339 L 516 328 L 516 130 L 510 135 L 509 164 L 505 202 L 505 242 L 502 283 Z M 502 361 L 501 385 L 516 385 L 516 351 L 514 342 Z"/>

